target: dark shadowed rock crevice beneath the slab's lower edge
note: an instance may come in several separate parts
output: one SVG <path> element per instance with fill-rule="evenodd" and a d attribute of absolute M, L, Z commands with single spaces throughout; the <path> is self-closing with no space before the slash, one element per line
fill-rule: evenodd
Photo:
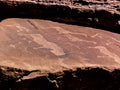
<path fill-rule="evenodd" d="M 9 70 L 9 72 L 16 73 L 16 70 L 5 69 L 2 72 L 8 73 Z M 11 79 L 3 78 L 2 75 L 0 77 L 2 87 L 0 88 L 4 90 L 119 90 L 120 88 L 119 69 L 111 71 L 105 68 L 88 67 L 56 73 L 44 72 L 44 75 L 39 70 L 31 72 L 18 70 L 18 72 L 17 78 L 12 74 L 6 75 L 12 77 Z M 35 77 L 36 73 L 39 75 Z"/>

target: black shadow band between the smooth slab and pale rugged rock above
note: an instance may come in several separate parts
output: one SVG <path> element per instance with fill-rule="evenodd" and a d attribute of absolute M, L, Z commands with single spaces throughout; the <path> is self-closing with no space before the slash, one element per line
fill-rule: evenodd
<path fill-rule="evenodd" d="M 44 5 L 28 2 L 0 2 L 0 20 L 7 18 L 30 18 L 52 20 L 60 23 L 87 26 L 120 33 L 119 15 L 101 10 L 79 11 L 64 5 Z"/>

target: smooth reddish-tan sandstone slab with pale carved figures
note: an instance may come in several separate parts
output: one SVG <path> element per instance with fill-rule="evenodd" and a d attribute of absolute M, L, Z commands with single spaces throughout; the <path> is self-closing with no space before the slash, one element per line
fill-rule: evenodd
<path fill-rule="evenodd" d="M 0 65 L 59 71 L 74 67 L 120 67 L 120 35 L 37 19 L 0 23 Z"/>

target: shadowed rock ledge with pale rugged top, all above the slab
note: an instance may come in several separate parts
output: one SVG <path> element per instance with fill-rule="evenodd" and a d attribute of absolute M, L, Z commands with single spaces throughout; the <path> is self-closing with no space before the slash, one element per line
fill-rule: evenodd
<path fill-rule="evenodd" d="M 1 19 L 27 17 L 120 29 L 119 0 L 0 0 Z"/>

